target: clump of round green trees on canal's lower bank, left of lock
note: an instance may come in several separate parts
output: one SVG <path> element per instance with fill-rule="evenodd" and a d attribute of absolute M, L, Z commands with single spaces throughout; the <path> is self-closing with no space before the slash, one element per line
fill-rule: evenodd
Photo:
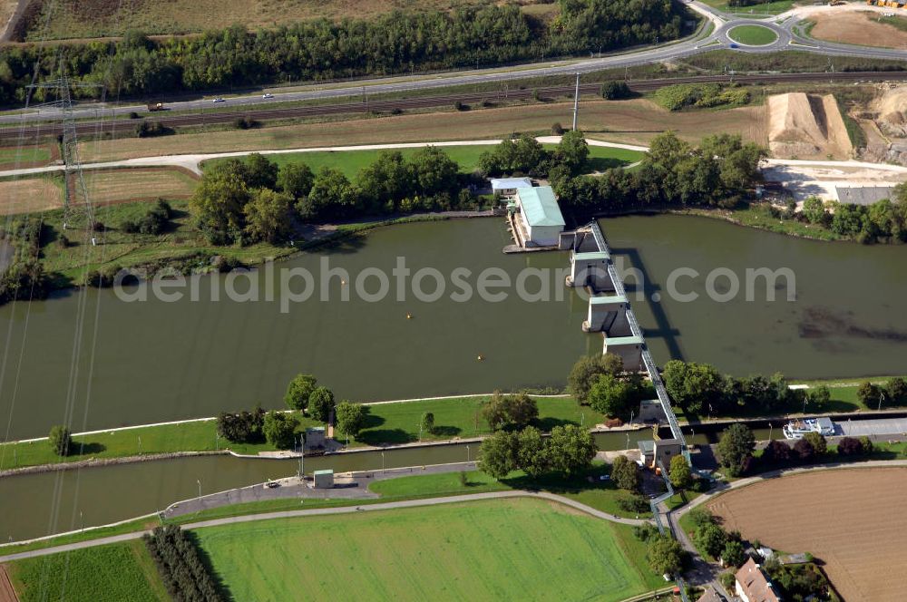
<path fill-rule="evenodd" d="M 555 426 L 544 437 L 529 426 L 519 432 L 498 431 L 482 442 L 481 469 L 495 479 L 524 471 L 533 479 L 548 473 L 574 476 L 588 469 L 598 448 L 592 435 L 576 424 Z"/>

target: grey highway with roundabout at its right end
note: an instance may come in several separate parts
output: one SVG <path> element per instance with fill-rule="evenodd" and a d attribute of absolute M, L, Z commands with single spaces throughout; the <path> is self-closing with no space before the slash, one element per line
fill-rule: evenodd
<path fill-rule="evenodd" d="M 600 57 L 591 57 L 589 59 L 571 59 L 555 63 L 546 63 L 541 66 L 525 66 L 513 69 L 480 69 L 473 71 L 464 71 L 459 73 L 444 73 L 435 76 L 410 76 L 410 77 L 389 77 L 381 80 L 362 80 L 346 84 L 335 84 L 330 86 L 306 86 L 293 92 L 274 92 L 272 98 L 264 98 L 262 94 L 246 94 L 232 96 L 225 99 L 223 103 L 214 103 L 212 99 L 193 99 L 187 101 L 167 102 L 167 108 L 173 112 L 202 112 L 205 109 L 215 109 L 223 107 L 248 107 L 249 112 L 264 113 L 275 115 L 284 111 L 307 110 L 311 113 L 324 114 L 325 112 L 344 112 L 339 110 L 325 111 L 325 107 L 296 107 L 293 110 L 271 109 L 268 110 L 268 104 L 278 102 L 302 102 L 302 101 L 325 101 L 349 99 L 351 97 L 365 98 L 367 94 L 398 93 L 432 90 L 437 88 L 447 88 L 452 86 L 475 85 L 487 83 L 507 83 L 515 80 L 524 80 L 528 78 L 551 77 L 557 75 L 571 75 L 573 73 L 592 73 L 604 69 L 615 69 L 623 67 L 638 66 L 648 63 L 659 63 L 681 59 L 697 53 L 705 53 L 713 50 L 733 48 L 736 52 L 741 53 L 775 53 L 785 50 L 795 50 L 807 53 L 819 53 L 834 56 L 851 56 L 873 59 L 892 59 L 907 61 L 907 51 L 894 50 L 888 48 L 873 48 L 867 46 L 854 46 L 849 44 L 834 44 L 821 40 L 804 37 L 797 31 L 797 24 L 801 18 L 792 11 L 784 15 L 772 16 L 768 19 L 757 19 L 755 17 L 738 17 L 736 15 L 726 15 L 718 12 L 707 5 L 698 1 L 688 2 L 687 5 L 700 15 L 706 17 L 714 24 L 713 30 L 707 35 L 694 35 L 686 39 L 671 42 L 668 44 L 659 44 L 656 46 L 645 47 L 636 51 L 610 53 Z M 811 7 L 815 8 L 815 7 Z M 829 7 L 829 10 L 835 10 L 839 7 Z M 840 7 L 845 10 L 845 7 Z M 780 23 L 780 24 L 779 24 Z M 728 33 L 738 25 L 756 24 L 771 29 L 777 35 L 777 39 L 772 44 L 760 46 L 748 46 L 739 44 L 731 40 Z M 830 60 L 834 66 L 834 62 Z M 522 91 L 525 92 L 525 91 Z M 517 91 L 503 92 L 512 94 L 515 97 Z M 493 96 L 494 93 L 484 93 L 483 98 Z M 425 99 L 410 99 L 418 102 Z M 388 103 L 388 102 L 384 102 Z M 403 101 L 395 101 L 395 107 L 404 108 Z M 356 108 L 357 112 L 362 112 L 363 102 L 346 102 L 346 108 Z M 369 110 L 380 111 L 382 102 L 373 102 Z M 337 105 L 332 105 L 336 107 Z M 96 119 L 112 121 L 113 116 L 125 116 L 130 112 L 139 112 L 147 114 L 147 107 L 143 104 L 129 104 L 122 106 L 112 106 L 110 104 L 102 105 L 91 103 L 76 107 L 73 115 L 77 119 Z M 18 123 L 24 125 L 29 121 L 53 121 L 59 119 L 62 113 L 55 107 L 43 107 L 32 112 L 23 112 L 19 114 L 5 114 L 0 116 L 0 123 Z M 236 112 L 214 113 L 213 115 L 184 115 L 185 119 L 192 120 L 193 123 L 200 121 L 205 122 L 222 122 L 232 121 L 239 116 Z M 255 114 L 251 114 L 255 118 Z M 298 113 L 289 116 L 300 116 Z M 173 121 L 177 116 L 173 116 L 169 121 Z M 274 117 L 269 117 L 273 119 Z M 174 124 L 179 124 L 173 121 Z M 132 129 L 132 125 L 128 126 Z M 46 131 L 45 131 L 46 133 Z M 5 135 L 4 138 L 9 138 Z"/>

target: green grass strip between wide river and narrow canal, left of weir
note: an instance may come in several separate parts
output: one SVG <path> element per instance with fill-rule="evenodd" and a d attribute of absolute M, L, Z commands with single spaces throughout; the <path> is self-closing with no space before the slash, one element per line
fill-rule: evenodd
<path fill-rule="evenodd" d="M 434 413 L 436 429 L 435 432 L 423 432 L 423 441 L 488 434 L 491 432 L 488 423 L 477 415 L 485 399 L 487 398 L 469 397 L 375 405 L 366 421 L 366 429 L 358 438 L 351 439 L 350 445 L 356 447 L 416 442 L 419 440 L 419 422 L 425 412 Z M 571 398 L 539 398 L 538 403 L 538 425 L 545 431 L 550 431 L 559 424 L 582 422 L 591 426 L 603 420 L 601 414 L 590 408 L 580 408 Z M 297 418 L 300 420 L 299 430 L 317 424 L 306 417 L 297 415 Z M 56 456 L 46 441 L 3 443 L 0 444 L 0 470 L 89 458 L 122 458 L 142 453 L 213 452 L 229 447 L 237 453 L 257 454 L 275 449 L 267 443 L 230 443 L 218 440 L 216 432 L 217 425 L 214 421 L 102 432 L 75 437 L 73 453 L 66 458 Z"/>

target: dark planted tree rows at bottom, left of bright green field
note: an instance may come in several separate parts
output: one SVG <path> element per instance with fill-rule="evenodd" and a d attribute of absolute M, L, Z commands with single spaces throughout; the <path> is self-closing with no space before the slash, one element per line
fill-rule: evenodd
<path fill-rule="evenodd" d="M 142 537 L 158 568 L 164 587 L 180 602 L 220 602 L 223 597 L 202 563 L 199 551 L 177 525 L 157 527 Z"/>

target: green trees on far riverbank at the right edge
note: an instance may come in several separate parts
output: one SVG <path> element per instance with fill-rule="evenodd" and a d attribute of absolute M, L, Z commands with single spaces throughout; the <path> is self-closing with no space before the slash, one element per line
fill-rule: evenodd
<path fill-rule="evenodd" d="M 907 183 L 894 188 L 892 199 L 872 205 L 824 202 L 810 197 L 800 212 L 788 209 L 785 217 L 797 218 L 830 229 L 835 234 L 863 244 L 907 242 Z"/>

